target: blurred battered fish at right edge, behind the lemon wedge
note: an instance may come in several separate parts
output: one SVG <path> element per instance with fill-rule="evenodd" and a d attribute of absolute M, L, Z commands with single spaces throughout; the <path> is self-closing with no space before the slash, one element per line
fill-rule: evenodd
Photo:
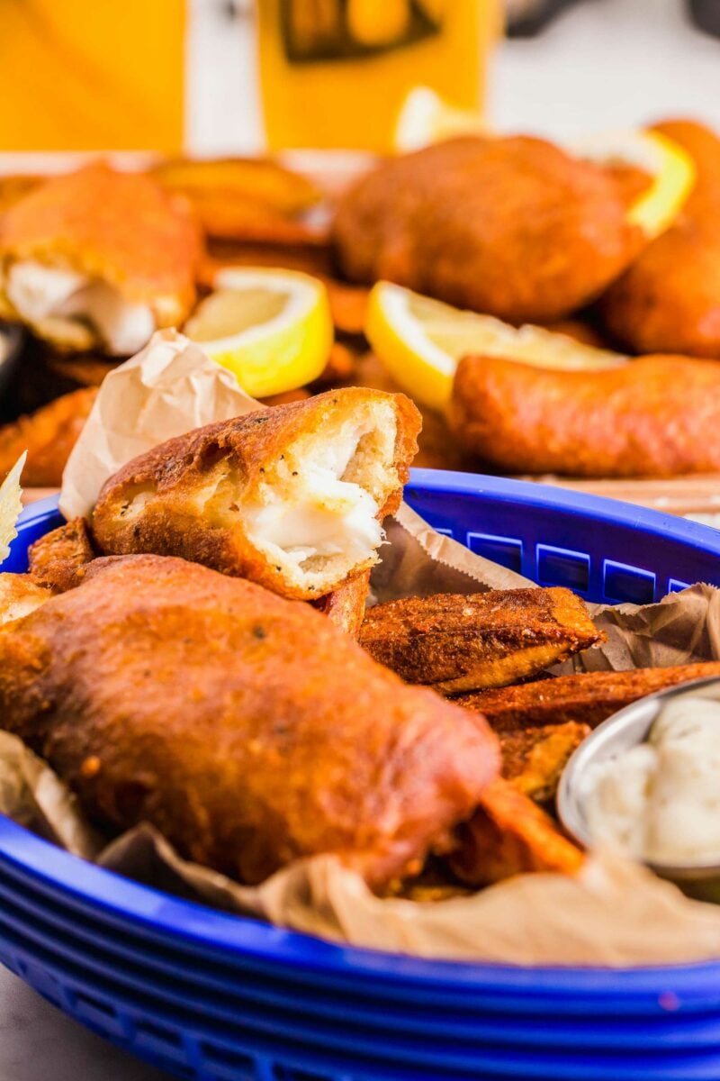
<path fill-rule="evenodd" d="M 601 313 L 636 352 L 720 358 L 720 137 L 689 120 L 657 124 L 693 158 L 684 210 L 609 289 Z"/>

